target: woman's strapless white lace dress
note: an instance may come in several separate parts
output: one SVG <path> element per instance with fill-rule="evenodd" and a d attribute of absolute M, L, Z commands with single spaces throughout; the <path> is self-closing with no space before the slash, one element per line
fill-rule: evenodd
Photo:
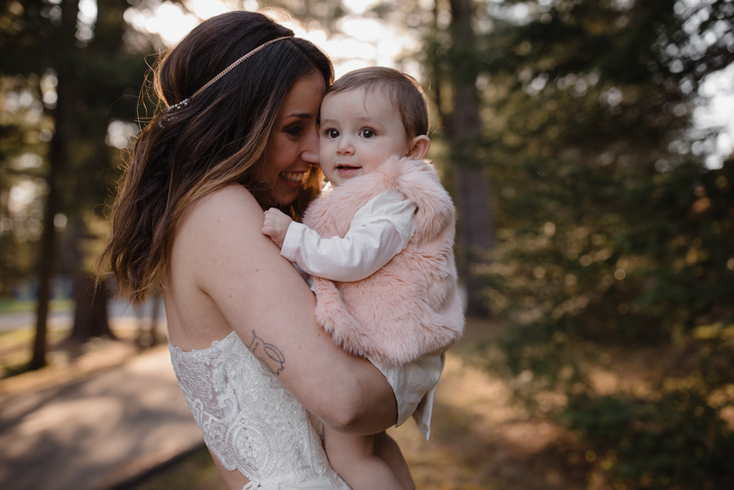
<path fill-rule="evenodd" d="M 250 480 L 243 490 L 349 490 L 329 466 L 318 422 L 236 333 L 207 349 L 169 350 L 204 442 Z"/>

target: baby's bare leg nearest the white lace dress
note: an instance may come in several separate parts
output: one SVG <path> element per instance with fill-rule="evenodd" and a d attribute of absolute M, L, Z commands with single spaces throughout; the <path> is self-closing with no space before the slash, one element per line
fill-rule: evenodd
<path fill-rule="evenodd" d="M 324 427 L 331 466 L 352 490 L 406 490 L 390 466 L 375 455 L 375 436 L 353 436 Z"/>

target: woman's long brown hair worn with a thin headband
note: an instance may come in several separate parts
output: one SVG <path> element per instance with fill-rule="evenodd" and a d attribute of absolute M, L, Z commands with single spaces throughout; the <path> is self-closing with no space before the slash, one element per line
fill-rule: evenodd
<path fill-rule="evenodd" d="M 193 29 L 158 64 L 153 89 L 174 105 L 191 97 L 231 63 L 289 29 L 255 12 L 229 12 Z M 306 40 L 290 37 L 258 52 L 182 107 L 154 116 L 138 136 L 112 208 L 112 233 L 98 261 L 107 261 L 119 294 L 139 304 L 166 271 L 178 220 L 196 200 L 233 183 L 263 207 L 270 189 L 254 167 L 283 99 L 314 72 L 333 81 L 331 62 Z M 315 95 L 316 96 L 316 95 Z M 289 207 L 299 215 L 318 193 L 310 172 Z"/>

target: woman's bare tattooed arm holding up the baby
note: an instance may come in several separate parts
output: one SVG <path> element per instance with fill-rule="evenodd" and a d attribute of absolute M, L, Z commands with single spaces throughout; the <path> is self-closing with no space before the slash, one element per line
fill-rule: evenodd
<path fill-rule="evenodd" d="M 197 257 L 194 281 L 245 345 L 326 425 L 354 434 L 393 425 L 397 409 L 387 380 L 316 324 L 313 294 L 261 233 L 262 223 L 249 192 L 230 186 L 194 206 L 175 246 Z"/>

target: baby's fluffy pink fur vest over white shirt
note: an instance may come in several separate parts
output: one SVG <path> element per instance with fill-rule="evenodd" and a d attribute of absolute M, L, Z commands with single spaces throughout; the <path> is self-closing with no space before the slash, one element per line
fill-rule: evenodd
<path fill-rule="evenodd" d="M 343 237 L 357 210 L 389 189 L 417 206 L 415 233 L 406 248 L 361 281 L 314 277 L 313 284 L 316 319 L 336 344 L 404 364 L 446 349 L 464 329 L 453 255 L 455 210 L 433 166 L 391 158 L 321 195 L 303 221 L 321 236 Z"/>

